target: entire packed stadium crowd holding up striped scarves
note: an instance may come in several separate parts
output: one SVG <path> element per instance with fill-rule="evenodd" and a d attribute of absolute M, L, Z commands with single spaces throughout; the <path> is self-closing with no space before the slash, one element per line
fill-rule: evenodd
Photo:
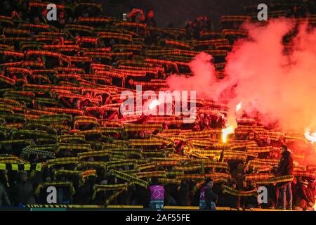
<path fill-rule="evenodd" d="M 193 124 L 119 110 L 121 91 L 168 89 L 166 77 L 192 75 L 188 63 L 201 51 L 223 78 L 233 41 L 246 37 L 239 25 L 256 20 L 256 6 L 223 15 L 214 30 L 206 16 L 162 28 L 154 10 L 133 8 L 123 21 L 97 2 L 53 3 L 56 21 L 44 1 L 0 3 L 0 206 L 47 204 L 54 186 L 66 205 L 313 210 L 316 165 L 304 160 L 314 149 L 303 134 L 244 114 L 223 143 L 228 108 L 204 98 Z M 269 17 L 316 25 L 315 1 L 271 8 Z M 305 150 L 291 152 L 298 143 Z M 268 197 L 258 203 L 261 186 Z"/>

